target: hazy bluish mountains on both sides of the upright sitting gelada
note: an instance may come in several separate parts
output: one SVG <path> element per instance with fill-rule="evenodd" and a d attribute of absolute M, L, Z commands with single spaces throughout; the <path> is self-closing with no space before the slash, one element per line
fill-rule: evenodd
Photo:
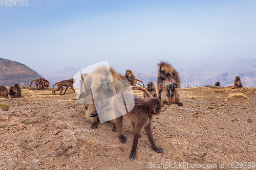
<path fill-rule="evenodd" d="M 237 76 L 240 76 L 244 87 L 256 87 L 256 58 L 222 61 L 218 64 L 210 63 L 197 67 L 173 66 L 179 72 L 182 88 L 214 86 L 218 81 L 223 87 L 233 86 Z M 137 78 L 139 71 L 133 70 L 133 72 Z M 150 81 L 156 83 L 157 69 L 151 73 L 140 73 L 140 77 L 144 84 Z"/>

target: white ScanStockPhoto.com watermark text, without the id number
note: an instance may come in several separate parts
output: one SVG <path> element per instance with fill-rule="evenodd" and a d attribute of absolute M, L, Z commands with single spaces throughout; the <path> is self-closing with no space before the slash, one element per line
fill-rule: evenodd
<path fill-rule="evenodd" d="M 217 168 L 217 164 L 200 164 L 200 163 L 188 163 L 188 162 L 178 162 L 178 163 L 153 163 L 148 162 L 148 168 L 165 168 L 165 169 L 177 169 L 177 168 Z"/>

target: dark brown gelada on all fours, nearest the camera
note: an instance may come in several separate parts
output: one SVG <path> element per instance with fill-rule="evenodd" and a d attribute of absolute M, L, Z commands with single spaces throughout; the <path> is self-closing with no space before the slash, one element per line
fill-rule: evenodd
<path fill-rule="evenodd" d="M 134 100 L 134 108 L 131 111 L 124 114 L 125 117 L 131 120 L 134 128 L 133 146 L 130 154 L 130 159 L 134 160 L 136 158 L 137 144 L 140 137 L 140 132 L 143 128 L 146 131 L 148 140 L 150 140 L 152 149 L 157 153 L 163 153 L 164 152 L 163 149 L 156 146 L 153 133 L 152 133 L 153 115 L 160 114 L 163 103 L 159 101 L 159 99 L 157 98 L 152 98 L 150 94 L 149 94 L 150 98 L 140 98 L 134 95 L 134 99 L 132 99 L 127 93 L 128 92 L 123 92 L 123 97 L 122 95 L 115 95 L 112 98 L 111 104 L 112 104 L 114 113 L 116 113 L 117 115 L 120 115 L 121 113 L 125 112 L 125 109 L 126 109 L 123 107 L 122 98 L 128 99 L 125 101 L 126 105 L 128 106 L 131 106 L 131 103 Z M 97 116 L 97 115 L 98 115 L 97 110 L 95 110 L 91 113 L 90 116 Z M 123 135 L 123 116 L 115 118 L 114 122 L 116 124 L 119 140 L 122 143 L 125 143 L 127 138 Z"/>

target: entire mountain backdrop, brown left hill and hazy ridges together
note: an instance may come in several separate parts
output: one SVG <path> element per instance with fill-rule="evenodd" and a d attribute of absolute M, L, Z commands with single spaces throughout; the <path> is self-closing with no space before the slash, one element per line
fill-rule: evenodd
<path fill-rule="evenodd" d="M 179 72 L 182 88 L 215 85 L 217 81 L 221 83 L 221 86 L 233 86 L 236 76 L 240 76 L 244 87 L 256 87 L 256 58 L 226 61 L 218 64 L 210 63 L 194 68 L 173 66 Z M 73 78 L 79 70 L 74 67 L 66 67 L 48 73 L 41 72 L 40 75 L 49 80 L 50 87 L 52 87 L 56 82 Z M 138 70 L 134 69 L 133 72 L 135 77 L 143 81 L 145 86 L 148 82 L 156 83 L 157 81 L 157 68 L 149 68 L 142 73 L 138 68 Z M 41 78 L 40 75 L 24 64 L 0 58 L 0 85 L 10 86 L 18 83 L 25 87 L 29 86 L 32 80 Z"/>

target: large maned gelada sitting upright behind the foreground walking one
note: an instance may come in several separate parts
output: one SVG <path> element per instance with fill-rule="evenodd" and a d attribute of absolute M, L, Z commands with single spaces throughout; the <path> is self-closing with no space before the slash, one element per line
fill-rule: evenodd
<path fill-rule="evenodd" d="M 172 65 L 164 61 L 161 61 L 158 66 L 158 99 L 166 104 L 177 103 L 179 106 L 183 106 L 179 90 L 181 81 L 178 72 Z"/>

